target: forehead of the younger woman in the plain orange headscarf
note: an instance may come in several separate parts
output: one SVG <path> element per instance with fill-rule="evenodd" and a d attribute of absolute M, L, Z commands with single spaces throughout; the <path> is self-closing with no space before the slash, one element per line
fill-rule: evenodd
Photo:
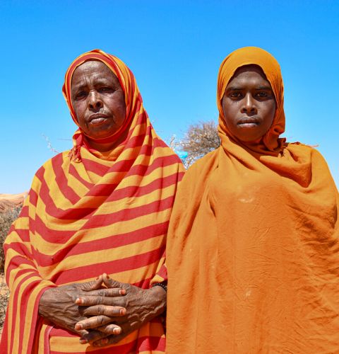
<path fill-rule="evenodd" d="M 228 82 L 227 86 L 234 86 L 234 84 L 240 86 L 260 85 L 270 87 L 270 83 L 266 79 L 263 69 L 257 65 L 246 65 L 244 67 L 239 67 L 234 72 L 234 75 Z"/>

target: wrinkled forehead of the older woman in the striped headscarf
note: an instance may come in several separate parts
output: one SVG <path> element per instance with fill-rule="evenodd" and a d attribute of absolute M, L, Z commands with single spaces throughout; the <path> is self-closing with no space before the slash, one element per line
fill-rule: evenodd
<path fill-rule="evenodd" d="M 71 87 L 82 84 L 87 79 L 117 80 L 117 76 L 107 65 L 97 60 L 89 60 L 79 65 L 73 72 Z"/>

